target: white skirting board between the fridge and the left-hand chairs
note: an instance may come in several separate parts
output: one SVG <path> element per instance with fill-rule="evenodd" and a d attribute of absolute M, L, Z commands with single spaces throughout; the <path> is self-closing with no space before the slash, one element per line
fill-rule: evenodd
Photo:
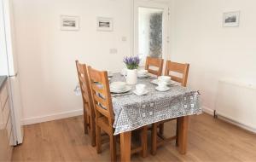
<path fill-rule="evenodd" d="M 62 113 L 53 113 L 45 116 L 27 118 L 27 119 L 23 119 L 22 123 L 23 125 L 38 124 L 38 123 L 43 123 L 43 122 L 52 121 L 56 119 L 66 119 L 70 117 L 75 117 L 82 114 L 83 114 L 83 109 L 79 109 L 79 110 L 67 111 Z"/>

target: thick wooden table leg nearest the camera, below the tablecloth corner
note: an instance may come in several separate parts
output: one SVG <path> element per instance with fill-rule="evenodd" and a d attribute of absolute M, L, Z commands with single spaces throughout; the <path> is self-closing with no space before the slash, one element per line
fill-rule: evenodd
<path fill-rule="evenodd" d="M 120 134 L 121 162 L 131 161 L 131 131 Z"/>

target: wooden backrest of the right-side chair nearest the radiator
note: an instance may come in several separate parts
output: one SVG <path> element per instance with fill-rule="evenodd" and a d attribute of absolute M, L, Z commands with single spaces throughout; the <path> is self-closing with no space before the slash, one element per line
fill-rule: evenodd
<path fill-rule="evenodd" d="M 182 77 L 174 76 L 170 72 L 176 72 Z M 189 75 L 189 64 L 181 64 L 172 61 L 166 61 L 166 76 L 171 76 L 173 81 L 180 83 L 182 86 L 187 86 L 187 80 Z"/>

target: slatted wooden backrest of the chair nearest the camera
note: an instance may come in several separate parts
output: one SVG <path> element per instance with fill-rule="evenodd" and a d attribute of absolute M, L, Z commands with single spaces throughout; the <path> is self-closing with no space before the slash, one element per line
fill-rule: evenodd
<path fill-rule="evenodd" d="M 108 118 L 108 124 L 112 126 L 113 105 L 109 89 L 108 72 L 101 72 L 88 67 L 88 73 L 96 112 L 96 119 L 103 115 Z"/>

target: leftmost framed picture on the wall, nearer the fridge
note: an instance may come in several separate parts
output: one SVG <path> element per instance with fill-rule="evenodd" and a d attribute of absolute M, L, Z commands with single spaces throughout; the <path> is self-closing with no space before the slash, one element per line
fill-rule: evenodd
<path fill-rule="evenodd" d="M 61 31 L 79 31 L 79 16 L 61 15 Z"/>

